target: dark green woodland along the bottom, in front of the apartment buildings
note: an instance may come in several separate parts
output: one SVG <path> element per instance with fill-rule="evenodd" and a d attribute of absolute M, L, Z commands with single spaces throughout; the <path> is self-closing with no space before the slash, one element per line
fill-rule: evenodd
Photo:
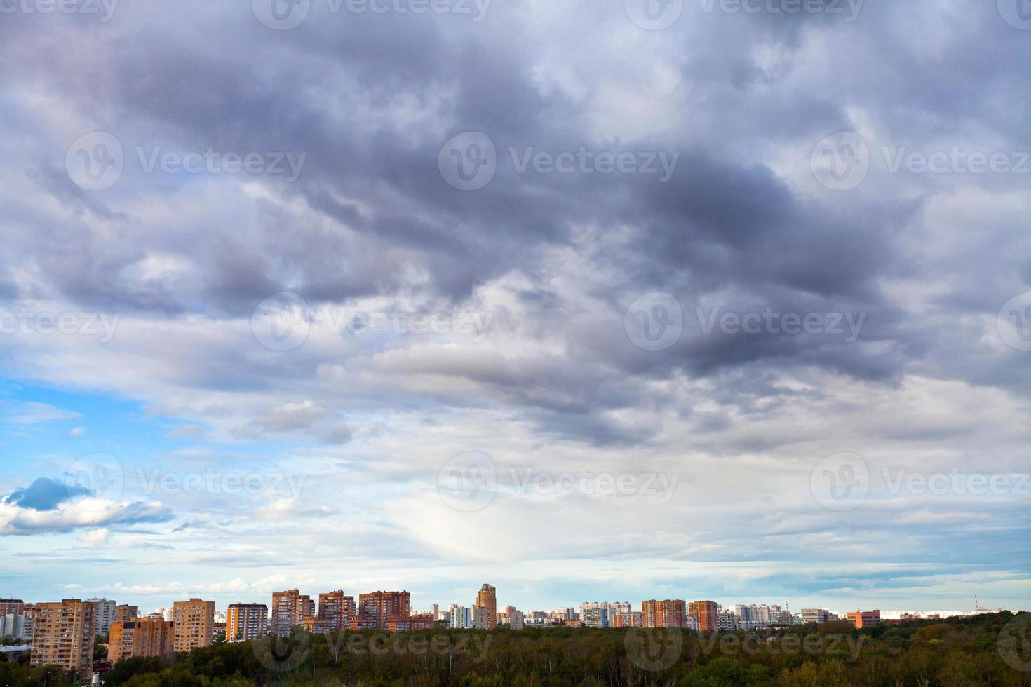
<path fill-rule="evenodd" d="M 1031 687 L 1031 614 L 989 614 L 856 630 L 847 623 L 762 633 L 529 628 L 339 632 L 219 644 L 163 663 L 120 662 L 127 687 Z M 0 664 L 0 684 L 58 685 Z"/>

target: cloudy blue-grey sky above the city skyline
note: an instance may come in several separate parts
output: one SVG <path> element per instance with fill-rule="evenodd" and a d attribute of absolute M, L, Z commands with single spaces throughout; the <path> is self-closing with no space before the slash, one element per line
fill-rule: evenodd
<path fill-rule="evenodd" d="M 0 2 L 0 596 L 1029 610 L 1022 3 Z"/>

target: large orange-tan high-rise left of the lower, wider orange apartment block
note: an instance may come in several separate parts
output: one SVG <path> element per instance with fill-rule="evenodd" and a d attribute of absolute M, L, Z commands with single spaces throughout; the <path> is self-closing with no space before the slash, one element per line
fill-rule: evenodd
<path fill-rule="evenodd" d="M 96 604 L 77 598 L 37 604 L 31 664 L 60 665 L 81 678 L 92 677 L 96 613 Z"/>

